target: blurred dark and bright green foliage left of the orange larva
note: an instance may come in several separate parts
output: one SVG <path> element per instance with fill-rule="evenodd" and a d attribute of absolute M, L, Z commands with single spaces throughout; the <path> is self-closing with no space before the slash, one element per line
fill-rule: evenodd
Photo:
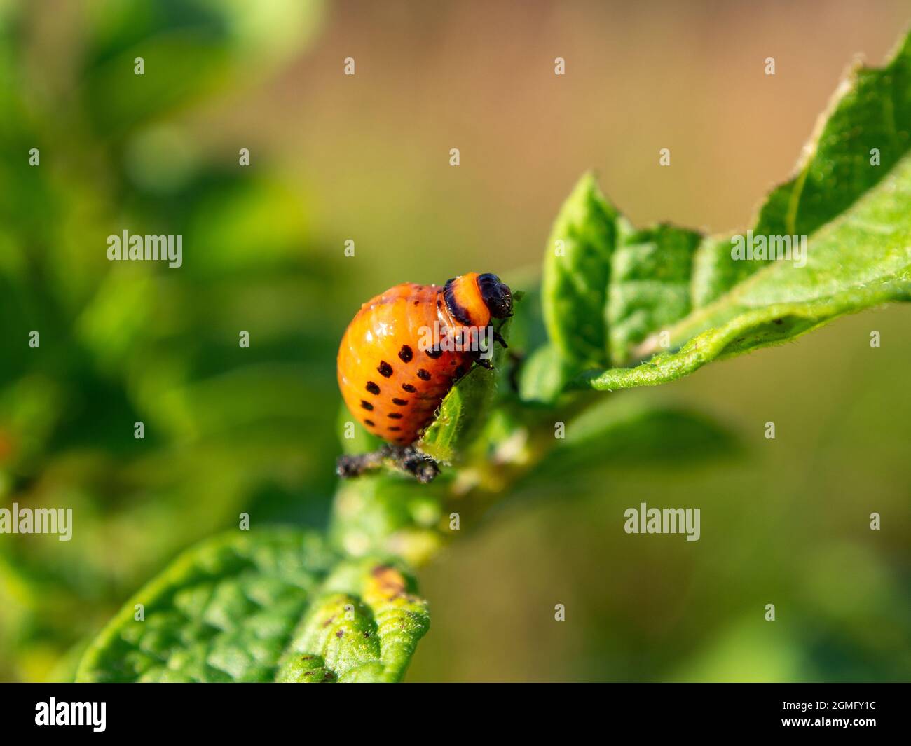
<path fill-rule="evenodd" d="M 2 680 L 56 676 L 126 594 L 241 511 L 322 522 L 335 445 L 305 434 L 336 406 L 338 273 L 281 169 L 207 157 L 179 124 L 299 53 L 321 15 L 296 0 L 92 4 L 78 48 L 49 66 L 61 53 L 34 48 L 37 4 L 2 7 L 0 494 L 72 506 L 78 538 L 0 541 Z M 124 229 L 182 235 L 183 267 L 108 262 Z"/>

